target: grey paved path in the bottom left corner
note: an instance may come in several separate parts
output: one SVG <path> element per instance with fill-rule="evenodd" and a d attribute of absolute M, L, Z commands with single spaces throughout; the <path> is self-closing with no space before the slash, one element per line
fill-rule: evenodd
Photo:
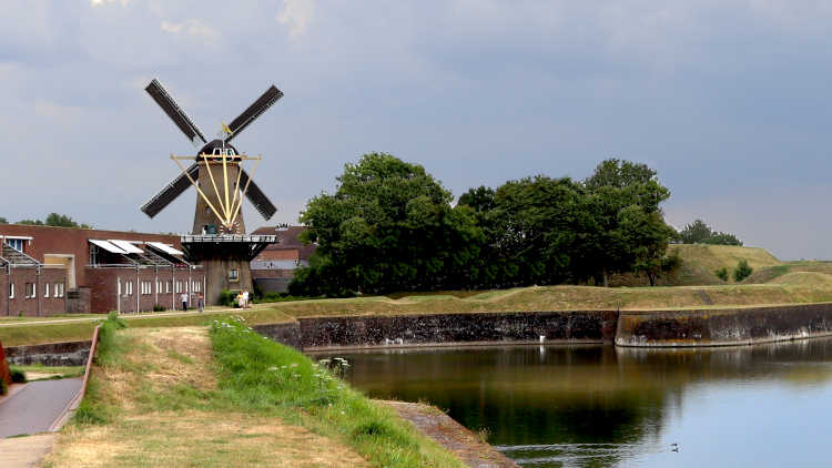
<path fill-rule="evenodd" d="M 82 378 L 31 381 L 0 404 L 0 438 L 45 433 L 63 416 Z"/>

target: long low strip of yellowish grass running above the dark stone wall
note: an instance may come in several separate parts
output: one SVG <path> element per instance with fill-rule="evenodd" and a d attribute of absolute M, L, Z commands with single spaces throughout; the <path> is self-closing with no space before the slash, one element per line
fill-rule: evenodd
<path fill-rule="evenodd" d="M 816 263 L 816 262 L 815 262 Z M 830 265 L 832 273 L 832 265 Z M 314 299 L 258 304 L 251 309 L 203 314 L 174 313 L 123 316 L 133 328 L 207 325 L 211 321 L 237 314 L 250 325 L 285 323 L 302 317 L 349 315 L 446 314 L 481 312 L 672 309 L 738 307 L 755 305 L 832 302 L 832 282 L 783 276 L 789 283 L 732 284 L 678 287 L 534 286 L 467 294 L 430 294 Z M 779 276 L 779 277 L 781 277 Z M 822 278 L 825 278 L 823 276 Z M 467 292 L 466 292 L 467 293 Z M 463 296 L 463 297 L 458 297 Z M 100 316 L 99 316 L 100 317 Z M 88 340 L 98 319 L 61 323 L 45 319 L 35 324 L 0 325 L 4 346 Z"/>

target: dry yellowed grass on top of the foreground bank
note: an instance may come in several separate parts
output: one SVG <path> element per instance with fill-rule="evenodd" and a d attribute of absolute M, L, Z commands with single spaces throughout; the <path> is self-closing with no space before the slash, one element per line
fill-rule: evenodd
<path fill-rule="evenodd" d="M 367 467 L 346 446 L 215 397 L 207 330 L 133 328 L 115 363 L 94 367 L 106 424 L 69 425 L 47 462 L 59 467 Z"/>

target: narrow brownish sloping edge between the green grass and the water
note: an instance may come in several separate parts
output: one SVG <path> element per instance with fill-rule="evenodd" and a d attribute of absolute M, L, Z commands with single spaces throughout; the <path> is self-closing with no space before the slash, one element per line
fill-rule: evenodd
<path fill-rule="evenodd" d="M 432 406 L 405 401 L 379 403 L 398 411 L 404 419 L 454 452 L 471 468 L 518 468 L 517 464 L 505 455 Z"/>

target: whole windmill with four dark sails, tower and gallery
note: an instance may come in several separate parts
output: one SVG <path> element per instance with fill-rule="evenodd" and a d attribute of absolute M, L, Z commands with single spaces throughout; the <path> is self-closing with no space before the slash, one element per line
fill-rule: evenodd
<path fill-rule="evenodd" d="M 247 199 L 265 220 L 270 220 L 277 208 L 243 167 L 252 164 L 253 175 L 262 157 L 239 152 L 231 141 L 283 93 L 272 85 L 240 116 L 222 125 L 221 139 L 209 142 L 159 81 L 151 81 L 145 91 L 200 150 L 195 157 L 171 154 L 182 174 L 141 210 L 153 217 L 187 187 L 196 189 L 193 230 L 190 235 L 181 237 L 181 244 L 187 260 L 205 268 L 205 304 L 217 304 L 223 289 L 251 292 L 250 262 L 268 244 L 277 242 L 277 236 L 245 234 L 241 210 L 243 199 Z M 183 161 L 192 163 L 185 166 Z"/>

